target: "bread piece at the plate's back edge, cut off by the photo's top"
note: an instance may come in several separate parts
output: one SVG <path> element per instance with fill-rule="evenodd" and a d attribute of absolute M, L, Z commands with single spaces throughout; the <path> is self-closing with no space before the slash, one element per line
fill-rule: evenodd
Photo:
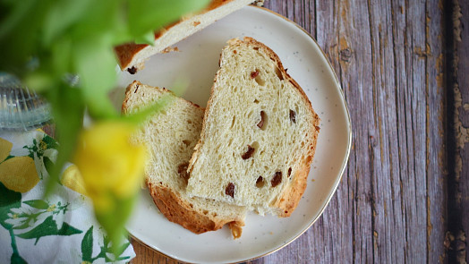
<path fill-rule="evenodd" d="M 142 69 L 145 60 L 151 55 L 165 53 L 176 49 L 171 46 L 176 42 L 191 36 L 193 33 L 202 30 L 209 24 L 217 21 L 229 13 L 243 8 L 254 0 L 212 0 L 209 6 L 201 13 L 183 18 L 165 29 L 155 33 L 155 43 L 153 46 L 146 44 L 127 43 L 115 47 L 115 54 L 121 69 L 132 74 Z"/>

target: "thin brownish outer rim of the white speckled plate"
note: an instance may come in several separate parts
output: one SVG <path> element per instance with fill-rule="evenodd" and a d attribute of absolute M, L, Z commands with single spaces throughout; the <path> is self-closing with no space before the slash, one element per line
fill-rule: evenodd
<path fill-rule="evenodd" d="M 342 181 L 342 177 L 344 175 L 344 172 L 345 172 L 345 168 L 348 164 L 348 160 L 350 158 L 350 152 L 351 152 L 351 149 L 352 149 L 352 140 L 353 140 L 353 133 L 352 133 L 352 119 L 351 119 L 351 115 L 350 115 L 350 112 L 349 112 L 349 109 L 348 109 L 348 105 L 347 105 L 347 102 L 345 100 L 345 93 L 344 93 L 344 90 L 342 89 L 342 86 L 340 85 L 340 81 L 338 80 L 338 77 L 337 77 L 337 73 L 336 71 L 334 70 L 334 67 L 332 66 L 332 64 L 330 63 L 330 61 L 328 60 L 328 56 L 324 53 L 324 51 L 322 50 L 322 48 L 320 47 L 320 45 L 318 44 L 318 42 L 316 41 L 315 38 L 313 38 L 310 34 L 310 32 L 306 31 L 303 29 L 303 27 L 301 27 L 299 24 L 297 24 L 296 22 L 288 19 L 286 16 L 280 14 L 280 13 L 276 13 L 266 7 L 263 7 L 263 6 L 257 6 L 257 5 L 246 5 L 245 7 L 243 7 L 243 9 L 258 9 L 258 10 L 261 10 L 262 12 L 267 12 L 267 13 L 271 13 L 277 17 L 279 17 L 280 19 L 288 22 L 288 23 L 291 23 L 293 24 L 296 28 L 298 28 L 299 30 L 302 30 L 303 33 L 306 34 L 306 36 L 308 36 L 309 38 L 311 38 L 312 42 L 314 43 L 314 45 L 316 45 L 316 47 L 318 47 L 318 49 L 320 50 L 320 53 L 321 55 L 325 58 L 325 61 L 327 62 L 328 64 L 328 68 L 330 69 L 330 72 L 332 72 L 332 75 L 334 76 L 334 82 L 335 82 L 335 85 L 336 85 L 336 88 L 337 90 L 339 91 L 339 94 L 340 94 L 340 98 L 342 99 L 343 103 L 344 103 L 344 108 L 345 108 L 345 121 L 346 121 L 346 127 L 347 127 L 347 144 L 346 144 L 346 151 L 345 151 L 345 158 L 341 164 L 341 167 L 340 167 L 340 170 L 339 170 L 339 177 L 337 178 L 336 180 L 336 183 L 334 183 L 333 187 L 330 189 L 330 193 L 328 195 L 328 199 L 325 200 L 324 202 L 324 205 L 322 206 L 322 208 L 320 209 L 320 212 L 319 214 L 313 218 L 311 220 L 311 223 L 306 226 L 302 232 L 300 232 L 299 234 L 295 235 L 294 237 L 292 237 L 289 241 L 287 241 L 286 243 L 283 243 L 282 245 L 280 245 L 279 247 L 277 247 L 276 249 L 273 249 L 271 251 L 267 251 L 267 252 L 264 252 L 256 257 L 252 257 L 252 258 L 248 258 L 248 259 L 244 259 L 244 260 L 239 260 L 239 261 L 235 261 L 235 262 L 226 262 L 226 263 L 243 263 L 245 261 L 251 261 L 251 260 L 257 260 L 257 259 L 260 259 L 262 257 L 266 257 L 266 256 L 269 256 L 270 254 L 272 253 L 275 253 L 277 251 L 280 251 L 282 249 L 284 249 L 287 245 L 289 245 L 290 243 L 293 243 L 296 239 L 298 239 L 301 235 L 303 235 L 306 231 L 308 231 L 312 225 L 314 225 L 314 223 L 322 216 L 324 210 L 328 207 L 328 204 L 330 202 L 330 200 L 332 200 L 332 198 L 334 197 L 334 194 L 337 192 L 337 187 L 338 187 L 338 184 L 341 183 Z M 243 10 L 241 9 L 241 10 Z M 165 252 L 162 252 L 162 251 L 159 251 L 158 249 L 156 249 L 155 247 L 147 244 L 147 243 L 144 243 L 143 241 L 141 241 L 141 239 L 139 239 L 138 237 L 136 237 L 134 234 L 132 234 L 132 232 L 130 232 L 128 230 L 128 228 L 126 227 L 127 229 L 127 232 L 128 234 L 132 237 L 132 240 L 138 242 L 138 243 L 141 243 L 141 245 L 143 245 L 144 247 L 152 250 L 152 251 L 156 251 L 158 252 L 158 254 L 161 254 L 163 255 L 164 257 L 168 258 L 168 259 L 171 259 L 171 260 L 176 260 L 176 261 L 179 261 L 179 262 L 182 262 L 182 263 L 197 263 L 197 262 L 192 262 L 192 261 L 186 261 L 186 260 L 181 260 L 181 259 L 178 259 L 177 257 L 175 256 L 169 256 L 168 254 L 166 254 Z"/>

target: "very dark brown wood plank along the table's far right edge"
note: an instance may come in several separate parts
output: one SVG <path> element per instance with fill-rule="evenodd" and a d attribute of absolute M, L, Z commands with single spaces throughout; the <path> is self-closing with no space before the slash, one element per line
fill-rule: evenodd
<path fill-rule="evenodd" d="M 448 260 L 466 263 L 466 235 L 469 230 L 469 3 L 462 0 L 452 2 L 452 62 L 448 81 L 451 89 L 448 98 L 449 135 L 448 144 Z"/>

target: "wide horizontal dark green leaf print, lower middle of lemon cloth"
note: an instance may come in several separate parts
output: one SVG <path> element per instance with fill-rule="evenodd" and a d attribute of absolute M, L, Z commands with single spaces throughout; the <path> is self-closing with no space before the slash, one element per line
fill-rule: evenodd
<path fill-rule="evenodd" d="M 17 234 L 16 236 L 25 238 L 25 239 L 32 239 L 36 238 L 36 242 L 34 244 L 37 244 L 39 239 L 43 236 L 47 235 L 72 235 L 72 234 L 81 234 L 83 231 L 68 225 L 67 223 L 64 223 L 62 225 L 62 228 L 60 230 L 57 228 L 57 224 L 55 223 L 55 220 L 53 220 L 52 216 L 47 217 L 42 224 L 39 226 L 34 227 L 30 231 L 22 234 Z"/>

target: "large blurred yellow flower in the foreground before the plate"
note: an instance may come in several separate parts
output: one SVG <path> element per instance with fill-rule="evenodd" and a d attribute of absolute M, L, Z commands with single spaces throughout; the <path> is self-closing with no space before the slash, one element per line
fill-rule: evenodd
<path fill-rule="evenodd" d="M 147 152 L 130 141 L 134 130 L 132 124 L 108 121 L 81 132 L 74 164 L 97 211 L 114 210 L 115 198 L 139 191 Z"/>

